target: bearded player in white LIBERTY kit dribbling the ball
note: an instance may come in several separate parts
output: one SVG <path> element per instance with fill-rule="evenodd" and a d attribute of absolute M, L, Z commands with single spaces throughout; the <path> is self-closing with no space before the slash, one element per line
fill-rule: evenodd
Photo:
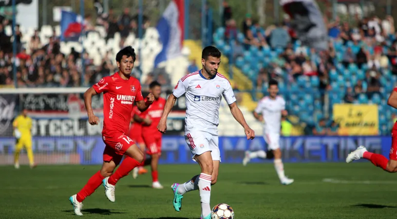
<path fill-rule="evenodd" d="M 174 183 L 173 205 L 176 211 L 182 207 L 183 194 L 199 190 L 201 201 L 201 218 L 211 219 L 209 205 L 211 185 L 218 177 L 221 154 L 218 147 L 219 107 L 222 96 L 229 105 L 231 114 L 244 128 L 247 140 L 255 137 L 254 130 L 249 128 L 243 113 L 237 107 L 230 82 L 218 73 L 221 63 L 221 52 L 213 46 L 204 48 L 201 56 L 203 69 L 189 73 L 176 84 L 167 99 L 161 120 L 157 126 L 160 132 L 167 130 L 167 116 L 174 106 L 176 98 L 186 96 L 185 140 L 193 155 L 192 159 L 200 164 L 201 173 L 184 184 Z"/>

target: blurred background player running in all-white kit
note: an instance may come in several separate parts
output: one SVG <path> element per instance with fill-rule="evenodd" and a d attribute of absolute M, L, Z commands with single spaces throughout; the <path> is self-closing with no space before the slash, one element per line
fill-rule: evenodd
<path fill-rule="evenodd" d="M 280 182 L 284 185 L 289 185 L 294 180 L 288 179 L 284 174 L 284 164 L 281 160 L 280 150 L 281 116 L 287 116 L 288 112 L 285 110 L 284 98 L 277 95 L 279 86 L 275 79 L 270 79 L 267 91 L 269 92 L 269 96 L 262 98 L 254 111 L 255 118 L 264 123 L 264 138 L 267 143 L 267 153 L 264 150 L 255 152 L 246 151 L 243 165 L 246 165 L 253 158 L 274 158 L 274 168 Z"/>

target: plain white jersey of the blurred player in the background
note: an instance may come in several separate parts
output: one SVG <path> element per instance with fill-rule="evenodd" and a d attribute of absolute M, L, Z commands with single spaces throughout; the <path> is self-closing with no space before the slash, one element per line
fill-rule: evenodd
<path fill-rule="evenodd" d="M 283 110 L 285 110 L 285 100 L 281 96 L 277 96 L 274 100 L 266 96 L 259 101 L 255 112 L 262 114 L 265 120 L 265 133 L 280 133 Z"/>

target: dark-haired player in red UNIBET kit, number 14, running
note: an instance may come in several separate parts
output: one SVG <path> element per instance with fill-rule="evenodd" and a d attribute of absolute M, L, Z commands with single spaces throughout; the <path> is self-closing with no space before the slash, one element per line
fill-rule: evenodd
<path fill-rule="evenodd" d="M 131 46 L 120 50 L 116 55 L 118 72 L 102 78 L 84 93 L 84 103 L 91 125 L 98 125 L 99 119 L 94 115 L 91 107 L 92 96 L 103 92 L 103 129 L 102 139 L 105 143 L 103 164 L 88 183 L 76 194 L 69 198 L 74 206 L 75 214 L 82 216 L 82 201 L 94 193 L 99 185 L 105 187 L 105 195 L 114 202 L 114 190 L 118 180 L 127 176 L 135 167 L 139 166 L 144 154 L 136 144 L 126 135 L 131 121 L 133 103 L 140 111 L 147 110 L 154 101 L 153 94 L 149 94 L 144 101 L 139 80 L 130 76 L 135 61 L 135 52 Z M 125 159 L 120 163 L 123 155 Z"/>

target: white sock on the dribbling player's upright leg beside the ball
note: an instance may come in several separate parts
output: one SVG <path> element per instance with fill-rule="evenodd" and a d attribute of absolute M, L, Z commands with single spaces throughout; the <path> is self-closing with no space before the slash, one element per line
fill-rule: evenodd
<path fill-rule="evenodd" d="M 209 206 L 209 200 L 211 198 L 211 181 L 212 176 L 201 173 L 198 179 L 198 187 L 200 192 L 201 201 L 201 215 L 207 217 L 211 214 L 211 207 Z"/>

